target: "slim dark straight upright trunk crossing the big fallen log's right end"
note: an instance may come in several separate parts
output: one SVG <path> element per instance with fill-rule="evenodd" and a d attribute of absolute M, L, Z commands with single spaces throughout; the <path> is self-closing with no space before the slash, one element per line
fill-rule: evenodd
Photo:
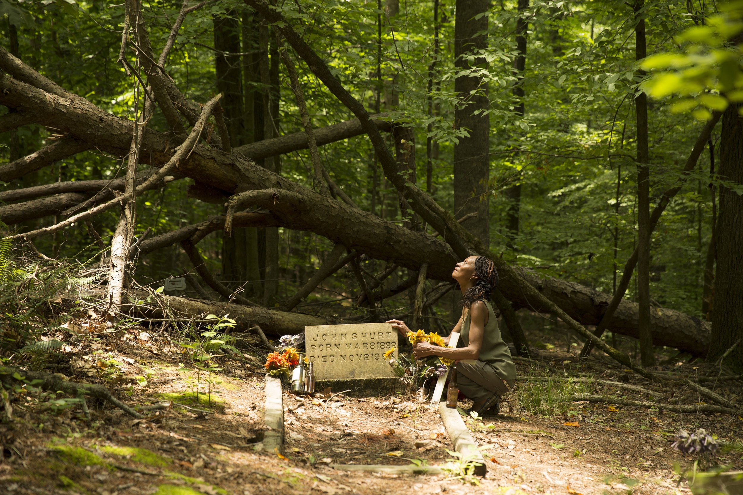
<path fill-rule="evenodd" d="M 647 56 L 644 0 L 635 0 L 635 59 Z M 642 75 L 642 74 L 641 74 Z M 637 302 L 640 305 L 640 360 L 655 365 L 650 329 L 650 152 L 648 149 L 648 100 L 643 92 L 635 97 L 637 113 Z"/>

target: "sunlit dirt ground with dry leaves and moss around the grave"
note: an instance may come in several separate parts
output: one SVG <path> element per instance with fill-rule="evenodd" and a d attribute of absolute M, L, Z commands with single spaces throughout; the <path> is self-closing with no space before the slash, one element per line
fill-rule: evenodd
<path fill-rule="evenodd" d="M 128 404 L 166 408 L 135 419 L 91 402 L 85 421 L 80 407 L 20 393 L 12 419 L 0 424 L 0 494 L 686 494 L 674 465 L 692 459 L 670 445 L 679 429 L 698 427 L 730 442 L 719 464 L 743 468 L 741 416 L 585 402 L 528 412 L 525 401 L 548 385 L 520 378 L 500 415 L 467 421 L 486 459 L 484 479 L 335 470 L 330 465 L 444 465 L 452 447 L 438 411 L 409 396 L 298 401 L 285 392 L 284 455 L 262 451 L 262 370 L 224 360 L 220 370 L 199 374 L 166 335 L 141 337 L 101 335 L 63 349 L 72 369 L 62 372 L 104 383 Z M 114 362 L 121 366 L 112 372 Z M 519 360 L 517 368 L 526 377 L 568 373 L 655 386 L 655 400 L 700 402 L 681 387 L 647 384 L 600 359 L 578 365 L 564 352 Z M 592 393 L 627 395 L 591 386 Z M 739 389 L 733 382 L 716 391 L 734 397 Z"/>

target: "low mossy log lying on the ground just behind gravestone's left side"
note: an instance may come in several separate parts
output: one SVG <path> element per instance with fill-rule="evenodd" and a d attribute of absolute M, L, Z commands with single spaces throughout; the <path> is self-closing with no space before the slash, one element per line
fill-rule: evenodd
<path fill-rule="evenodd" d="M 232 304 L 230 302 L 203 301 L 189 297 L 158 296 L 162 307 L 144 305 L 124 305 L 123 310 L 133 317 L 146 318 L 198 318 L 207 314 L 224 316 L 237 322 L 236 330 L 247 331 L 253 326 L 260 326 L 267 334 L 281 336 L 301 334 L 305 326 L 328 325 L 333 323 L 325 318 L 310 314 L 288 313 L 259 306 Z"/>

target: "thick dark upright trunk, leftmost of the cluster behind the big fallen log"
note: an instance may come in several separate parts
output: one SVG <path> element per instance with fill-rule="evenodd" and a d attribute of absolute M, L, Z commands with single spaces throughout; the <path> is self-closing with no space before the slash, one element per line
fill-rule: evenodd
<path fill-rule="evenodd" d="M 237 12 L 228 12 L 227 17 L 214 18 L 214 56 L 217 91 L 224 96 L 221 106 L 230 146 L 233 148 L 246 143 L 244 125 L 244 106 L 241 82 L 240 23 Z M 222 239 L 222 276 L 228 285 L 240 284 L 250 278 L 248 239 L 245 229 L 235 229 L 232 235 Z"/>

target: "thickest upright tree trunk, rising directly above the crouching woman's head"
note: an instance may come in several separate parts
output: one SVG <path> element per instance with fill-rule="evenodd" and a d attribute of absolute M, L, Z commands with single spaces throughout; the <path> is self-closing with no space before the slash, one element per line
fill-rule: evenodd
<path fill-rule="evenodd" d="M 457 0 L 454 23 L 454 57 L 458 71 L 484 66 L 478 58 L 473 65 L 465 59 L 472 51 L 487 48 L 487 10 L 489 0 Z M 477 35 L 477 36 L 476 36 Z M 488 180 L 490 178 L 490 117 L 487 83 L 479 77 L 457 77 L 454 91 L 459 102 L 454 110 L 455 129 L 467 129 L 469 137 L 459 138 L 454 146 L 454 214 L 457 218 L 468 213 L 477 216 L 463 222 L 485 245 L 490 243 L 490 215 L 488 211 Z M 478 114 L 475 114 L 479 111 Z"/>

